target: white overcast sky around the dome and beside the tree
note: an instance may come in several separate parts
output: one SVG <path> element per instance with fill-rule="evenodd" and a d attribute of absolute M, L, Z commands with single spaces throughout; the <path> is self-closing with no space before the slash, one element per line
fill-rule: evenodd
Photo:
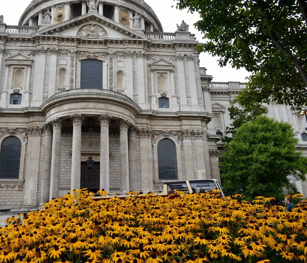
<path fill-rule="evenodd" d="M 177 29 L 176 23 L 181 24 L 182 20 L 190 25 L 189 31 L 196 35 L 196 39 L 204 42 L 202 35 L 194 28 L 193 24 L 200 19 L 199 15 L 190 14 L 187 11 L 177 10 L 176 2 L 173 0 L 145 0 L 148 3 L 157 17 L 159 18 L 164 32 L 175 32 Z M 21 14 L 29 5 L 31 0 L 0 0 L 0 14 L 4 16 L 4 22 L 7 25 L 17 25 Z M 240 81 L 245 82 L 245 77 L 249 74 L 245 69 L 233 69 L 231 65 L 221 68 L 217 63 L 218 58 L 212 57 L 208 53 L 200 54 L 200 66 L 207 68 L 207 74 L 212 75 L 215 82 Z"/>

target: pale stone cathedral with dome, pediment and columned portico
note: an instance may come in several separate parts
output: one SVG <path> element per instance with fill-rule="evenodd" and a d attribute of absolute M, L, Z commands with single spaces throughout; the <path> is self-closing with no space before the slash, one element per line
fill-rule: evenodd
<path fill-rule="evenodd" d="M 33 0 L 18 26 L 3 15 L 0 206 L 220 179 L 227 108 L 244 84 L 212 82 L 188 25 L 164 33 L 143 0 Z M 307 150 L 305 120 L 266 107 Z"/>

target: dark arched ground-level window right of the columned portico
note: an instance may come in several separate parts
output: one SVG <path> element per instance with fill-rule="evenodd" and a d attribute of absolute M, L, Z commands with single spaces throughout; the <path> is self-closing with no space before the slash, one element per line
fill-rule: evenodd
<path fill-rule="evenodd" d="M 158 143 L 159 180 L 177 180 L 176 145 L 170 139 L 162 139 Z"/>

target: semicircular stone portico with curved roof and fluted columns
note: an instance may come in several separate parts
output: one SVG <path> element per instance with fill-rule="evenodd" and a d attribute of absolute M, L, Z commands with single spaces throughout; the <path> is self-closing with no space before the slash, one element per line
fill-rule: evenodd
<path fill-rule="evenodd" d="M 115 122 L 119 127 L 120 139 L 120 189 L 129 190 L 135 185 L 135 169 L 129 175 L 128 159 L 135 159 L 135 146 L 130 145 L 128 153 L 128 127 L 134 127 L 136 116 L 141 109 L 129 97 L 104 89 L 73 89 L 59 92 L 41 105 L 45 112 L 45 133 L 53 128 L 52 146 L 46 147 L 44 159 L 51 156 L 51 169 L 44 169 L 41 202 L 59 196 L 61 128 L 63 122 L 72 121 L 72 169 L 71 190 L 80 188 L 81 178 L 81 126 L 85 118 L 100 123 L 100 180 L 99 188 L 109 191 L 109 124 Z M 51 137 L 51 136 L 50 136 Z M 131 140 L 129 140 L 131 141 Z M 51 144 L 50 140 L 46 140 Z M 128 156 L 129 155 L 129 156 Z M 48 174 L 49 173 L 49 174 Z M 49 194 L 48 194 L 49 193 Z M 46 199 L 46 200 L 45 200 Z"/>

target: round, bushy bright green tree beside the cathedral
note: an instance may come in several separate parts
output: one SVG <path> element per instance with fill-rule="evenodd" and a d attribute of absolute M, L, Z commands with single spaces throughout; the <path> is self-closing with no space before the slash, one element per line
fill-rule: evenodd
<path fill-rule="evenodd" d="M 298 142 L 289 123 L 257 116 L 236 131 L 220 163 L 223 187 L 244 189 L 248 200 L 255 196 L 282 198 L 283 188 L 297 191 L 290 182 L 306 180 L 307 158 L 296 151 Z"/>

